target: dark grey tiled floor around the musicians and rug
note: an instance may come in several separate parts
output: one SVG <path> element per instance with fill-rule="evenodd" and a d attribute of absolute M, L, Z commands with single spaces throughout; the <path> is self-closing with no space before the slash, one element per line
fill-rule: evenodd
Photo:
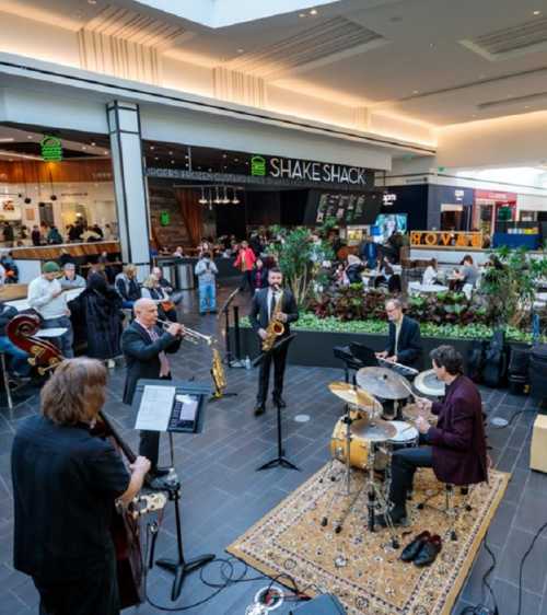
<path fill-rule="evenodd" d="M 213 316 L 196 315 L 196 298 L 184 300 L 184 320 L 206 333 L 213 333 Z M 208 380 L 209 351 L 203 347 L 185 344 L 174 359 L 178 379 Z M 301 472 L 276 468 L 257 473 L 258 465 L 275 454 L 276 429 L 271 409 L 258 419 L 252 415 L 255 396 L 256 370 L 228 371 L 229 388 L 236 397 L 209 404 L 205 431 L 197 436 L 176 436 L 176 465 L 183 481 L 184 546 L 188 558 L 211 552 L 225 557 L 224 547 L 260 519 L 268 510 L 292 492 L 304 479 L 316 472 L 328 459 L 328 442 L 333 427 L 341 414 L 341 404 L 327 391 L 326 384 L 341 378 L 341 370 L 290 367 L 287 372 L 284 414 L 284 448 L 289 459 Z M 108 385 L 106 411 L 123 428 L 128 441 L 136 445 L 137 434 L 129 429 L 132 416 L 121 404 L 124 369 L 113 371 Z M 533 410 L 526 397 L 509 395 L 505 391 L 484 391 L 484 401 L 490 416 L 512 417 L 521 409 Z M 37 594 L 28 578 L 12 567 L 12 499 L 10 479 L 10 445 L 13 432 L 25 416 L 37 410 L 36 396 L 18 406 L 13 419 L 4 409 L 0 414 L 0 615 L 37 613 Z M 307 414 L 309 422 L 296 422 L 294 417 Z M 547 475 L 528 469 L 531 428 L 535 413 L 526 411 L 507 429 L 489 428 L 489 441 L 497 467 L 512 472 L 513 477 L 488 533 L 488 544 L 497 558 L 491 577 L 501 615 L 516 615 L 519 562 L 535 531 L 547 521 Z M 162 440 L 162 455 L 167 462 L 166 440 Z M 167 510 L 158 541 L 156 557 L 175 554 L 174 515 Z M 540 537 L 528 557 L 523 575 L 522 615 L 547 615 L 547 532 Z M 470 603 L 480 602 L 481 577 L 490 566 L 488 554 L 481 548 L 475 566 L 462 591 L 453 613 Z M 243 571 L 235 566 L 235 575 Z M 249 571 L 248 577 L 256 573 Z M 219 567 L 205 572 L 206 580 L 218 581 Z M 267 581 L 257 580 L 234 584 L 213 600 L 188 611 L 194 615 L 244 614 L 246 606 Z M 213 590 L 203 585 L 197 573 L 185 582 L 181 605 L 198 602 Z M 170 602 L 171 577 L 154 568 L 149 577 L 149 595 L 166 606 Z M 283 605 L 276 613 L 286 615 L 294 605 Z M 128 610 L 127 613 L 132 613 Z M 140 607 L 141 615 L 160 613 L 149 604 Z M 97 613 L 96 615 L 102 615 Z"/>

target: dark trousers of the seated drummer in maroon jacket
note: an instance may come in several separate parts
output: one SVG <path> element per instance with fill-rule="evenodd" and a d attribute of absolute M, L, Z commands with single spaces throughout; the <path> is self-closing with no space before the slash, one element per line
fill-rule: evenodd
<path fill-rule="evenodd" d="M 412 489 L 416 471 L 433 466 L 433 451 L 427 443 L 427 438 L 420 434 L 420 446 L 400 449 L 393 453 L 389 500 L 398 512 L 406 510 L 407 495 Z"/>

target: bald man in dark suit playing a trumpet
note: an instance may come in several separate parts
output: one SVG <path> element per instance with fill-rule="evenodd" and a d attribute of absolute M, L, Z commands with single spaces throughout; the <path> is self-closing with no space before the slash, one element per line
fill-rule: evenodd
<path fill-rule="evenodd" d="M 171 380 L 166 353 L 178 350 L 185 334 L 179 323 L 171 323 L 165 330 L 158 326 L 158 305 L 152 299 L 137 300 L 133 311 L 135 321 L 121 335 L 121 351 L 127 365 L 124 403 L 129 405 L 139 379 Z M 151 463 L 144 481 L 152 489 L 161 489 L 162 477 L 168 473 L 168 468 L 158 466 L 159 449 L 159 431 L 140 432 L 139 455 Z"/>

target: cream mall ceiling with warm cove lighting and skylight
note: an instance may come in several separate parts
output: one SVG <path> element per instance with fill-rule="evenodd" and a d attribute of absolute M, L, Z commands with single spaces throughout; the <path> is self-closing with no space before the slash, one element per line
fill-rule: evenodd
<path fill-rule="evenodd" d="M 547 129 L 545 0 L 0 0 L 0 54 L 11 59 L 391 139 L 392 163 L 547 163 L 535 140 Z M 0 158 L 35 153 L 33 139 L 8 148 L 4 138 Z M 151 162 L 186 164 L 184 144 L 164 141 L 164 152 L 146 150 Z M 105 135 L 93 142 L 85 155 L 105 155 Z M 81 146 L 67 155 L 77 154 Z"/>

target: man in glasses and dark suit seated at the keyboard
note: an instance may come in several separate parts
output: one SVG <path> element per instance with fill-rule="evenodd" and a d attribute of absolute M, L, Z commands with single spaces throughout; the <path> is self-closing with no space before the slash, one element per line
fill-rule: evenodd
<path fill-rule="evenodd" d="M 420 325 L 403 314 L 398 299 L 386 301 L 385 311 L 389 321 L 389 338 L 386 349 L 376 352 L 376 357 L 419 369 L 422 353 Z"/>

